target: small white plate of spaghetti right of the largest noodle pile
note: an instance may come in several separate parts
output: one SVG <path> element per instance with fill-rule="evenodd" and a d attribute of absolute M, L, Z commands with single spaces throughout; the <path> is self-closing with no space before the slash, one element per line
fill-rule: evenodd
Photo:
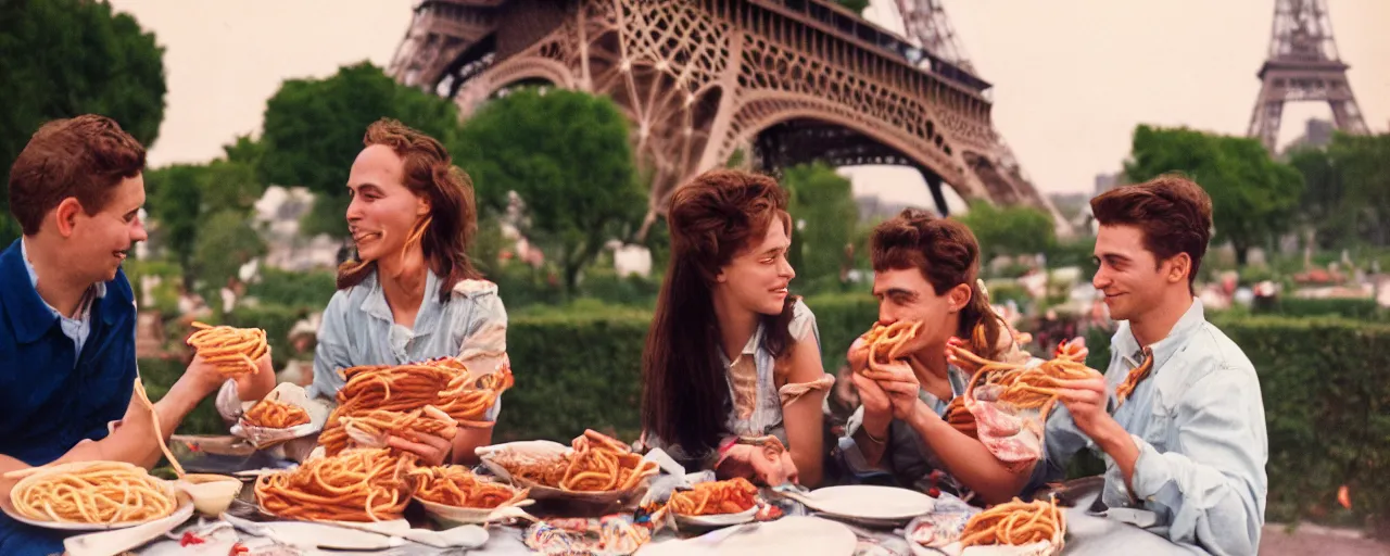
<path fill-rule="evenodd" d="M 448 523 L 488 523 L 513 517 L 528 506 L 528 491 L 478 477 L 464 466 L 417 467 L 410 471 L 414 499 L 425 513 Z"/>

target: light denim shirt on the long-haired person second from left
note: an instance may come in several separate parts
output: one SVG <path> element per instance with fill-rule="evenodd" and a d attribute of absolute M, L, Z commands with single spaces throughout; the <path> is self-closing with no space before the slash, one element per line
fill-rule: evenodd
<path fill-rule="evenodd" d="M 439 303 L 439 277 L 425 278 L 425 296 L 414 329 L 396 324 L 377 274 L 334 293 L 324 309 L 314 352 L 310 398 L 334 399 L 346 384 L 338 370 L 356 366 L 406 364 L 436 357 L 460 357 L 473 375 L 491 373 L 506 361 L 507 311 L 496 284 L 464 279 L 450 299 Z M 486 418 L 495 420 L 502 400 Z"/>

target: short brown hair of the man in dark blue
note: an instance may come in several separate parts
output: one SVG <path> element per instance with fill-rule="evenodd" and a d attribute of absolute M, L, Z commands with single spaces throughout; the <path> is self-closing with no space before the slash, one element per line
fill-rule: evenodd
<path fill-rule="evenodd" d="M 104 115 L 43 124 L 10 167 L 10 213 L 25 235 L 39 234 L 43 215 L 76 197 L 86 214 L 100 213 L 115 185 L 145 170 L 145 147 Z"/>

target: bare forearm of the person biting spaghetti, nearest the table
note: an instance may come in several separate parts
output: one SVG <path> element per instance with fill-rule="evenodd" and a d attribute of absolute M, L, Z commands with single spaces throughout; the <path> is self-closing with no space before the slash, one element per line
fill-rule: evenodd
<path fill-rule="evenodd" d="M 987 503 L 1017 496 L 1033 473 L 1031 466 L 1011 471 L 983 442 L 956 431 L 924 404 L 917 407 L 909 424 L 941 459 L 947 471 Z"/>

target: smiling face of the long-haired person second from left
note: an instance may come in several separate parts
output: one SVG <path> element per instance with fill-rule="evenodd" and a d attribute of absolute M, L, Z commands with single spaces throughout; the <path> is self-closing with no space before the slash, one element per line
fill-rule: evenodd
<path fill-rule="evenodd" d="M 411 227 L 430 214 L 430 203 L 404 186 L 400 157 L 385 145 L 373 145 L 357 154 L 348 189 L 352 196 L 348 231 L 364 261 L 400 253 Z"/>

